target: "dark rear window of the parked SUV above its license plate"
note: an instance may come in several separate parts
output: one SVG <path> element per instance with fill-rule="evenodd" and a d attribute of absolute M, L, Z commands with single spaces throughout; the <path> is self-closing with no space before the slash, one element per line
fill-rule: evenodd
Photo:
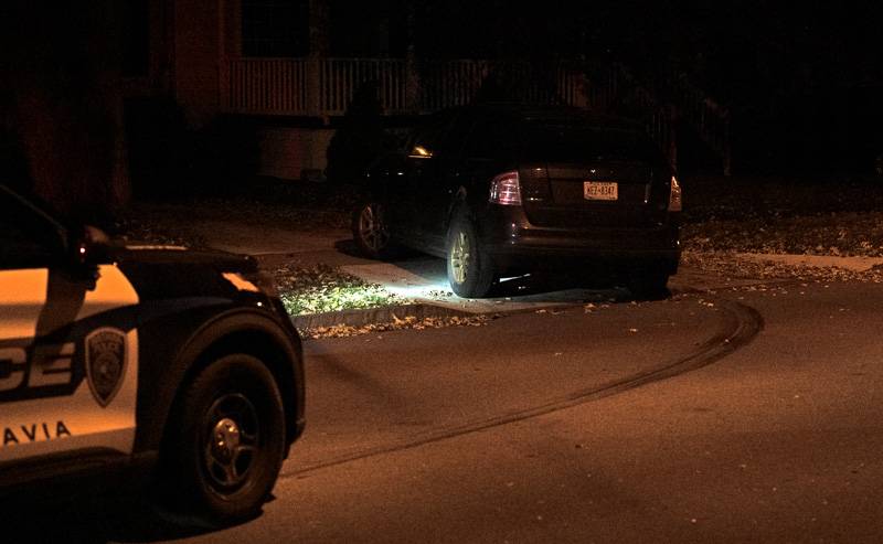
<path fill-rule="evenodd" d="M 659 150 L 638 130 L 588 126 L 567 121 L 528 120 L 521 126 L 521 153 L 526 160 L 585 162 L 634 160 L 657 162 Z"/>

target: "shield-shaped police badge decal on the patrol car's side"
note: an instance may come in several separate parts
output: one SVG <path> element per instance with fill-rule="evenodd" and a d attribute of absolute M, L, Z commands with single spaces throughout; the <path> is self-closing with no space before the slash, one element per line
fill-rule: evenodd
<path fill-rule="evenodd" d="M 103 327 L 86 337 L 86 375 L 93 396 L 106 408 L 126 374 L 126 333 Z"/>

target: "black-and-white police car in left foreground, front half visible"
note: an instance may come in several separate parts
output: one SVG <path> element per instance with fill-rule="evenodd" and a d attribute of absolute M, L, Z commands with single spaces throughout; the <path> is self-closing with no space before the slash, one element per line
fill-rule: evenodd
<path fill-rule="evenodd" d="M 304 428 L 302 350 L 245 256 L 115 246 L 0 184 L 0 494 L 136 470 L 259 511 Z"/>

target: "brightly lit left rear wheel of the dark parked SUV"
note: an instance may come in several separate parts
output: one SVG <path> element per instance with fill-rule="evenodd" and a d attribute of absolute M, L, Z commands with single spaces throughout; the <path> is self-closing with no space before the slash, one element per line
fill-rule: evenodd
<path fill-rule="evenodd" d="M 450 288 L 460 297 L 482 298 L 493 285 L 493 263 L 481 249 L 474 223 L 459 215 L 447 236 L 446 267 Z"/>

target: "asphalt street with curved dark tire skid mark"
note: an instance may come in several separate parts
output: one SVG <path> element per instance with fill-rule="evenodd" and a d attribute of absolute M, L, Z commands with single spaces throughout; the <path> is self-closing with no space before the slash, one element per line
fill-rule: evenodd
<path fill-rule="evenodd" d="M 881 300 L 794 284 L 310 341 L 308 429 L 260 518 L 108 534 L 881 542 Z"/>

